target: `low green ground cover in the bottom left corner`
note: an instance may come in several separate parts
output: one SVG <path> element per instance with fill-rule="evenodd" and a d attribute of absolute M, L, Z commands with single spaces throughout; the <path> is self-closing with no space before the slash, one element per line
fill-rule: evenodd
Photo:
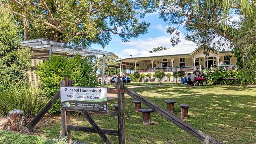
<path fill-rule="evenodd" d="M 0 130 L 0 144 L 46 144 L 46 140 L 37 135 L 25 135 Z"/>

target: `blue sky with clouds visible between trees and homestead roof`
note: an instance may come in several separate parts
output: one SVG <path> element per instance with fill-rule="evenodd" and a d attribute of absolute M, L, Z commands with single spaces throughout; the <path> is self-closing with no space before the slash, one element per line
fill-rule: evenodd
<path fill-rule="evenodd" d="M 233 19 L 237 19 L 234 17 Z M 157 48 L 158 46 L 171 46 L 170 39 L 172 35 L 166 33 L 167 22 L 163 22 L 163 19 L 159 18 L 158 12 L 149 13 L 143 19 L 146 22 L 150 22 L 150 27 L 148 33 L 140 35 L 137 38 L 132 38 L 130 42 L 122 42 L 118 35 L 111 35 L 112 40 L 103 49 L 100 45 L 94 44 L 92 48 L 98 50 L 106 50 L 108 52 L 114 52 L 121 59 L 130 57 L 130 55 L 137 56 L 142 54 L 147 54 L 152 48 Z M 179 30 L 184 32 L 185 30 L 180 26 Z M 191 41 L 186 41 L 184 39 L 183 33 L 180 35 L 181 42 L 179 44 L 192 44 Z"/>

